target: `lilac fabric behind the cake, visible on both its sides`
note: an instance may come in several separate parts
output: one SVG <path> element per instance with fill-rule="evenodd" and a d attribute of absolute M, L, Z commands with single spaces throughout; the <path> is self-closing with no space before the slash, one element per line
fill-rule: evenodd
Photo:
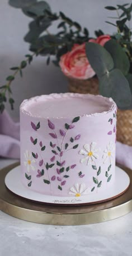
<path fill-rule="evenodd" d="M 7 111 L 0 114 L 0 156 L 20 158 L 20 124 Z M 116 162 L 132 169 L 132 147 L 116 143 Z"/>

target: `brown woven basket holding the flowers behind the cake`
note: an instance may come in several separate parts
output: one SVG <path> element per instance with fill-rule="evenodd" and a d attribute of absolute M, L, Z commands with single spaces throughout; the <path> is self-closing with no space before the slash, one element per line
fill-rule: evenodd
<path fill-rule="evenodd" d="M 69 92 L 98 95 L 98 79 L 68 78 Z M 132 110 L 117 110 L 117 141 L 132 146 Z"/>

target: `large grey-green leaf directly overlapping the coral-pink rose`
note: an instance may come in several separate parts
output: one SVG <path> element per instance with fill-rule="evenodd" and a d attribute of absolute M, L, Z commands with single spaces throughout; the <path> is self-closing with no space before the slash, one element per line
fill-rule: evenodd
<path fill-rule="evenodd" d="M 98 77 L 102 77 L 114 68 L 114 61 L 110 53 L 100 44 L 86 43 L 86 55 Z"/>

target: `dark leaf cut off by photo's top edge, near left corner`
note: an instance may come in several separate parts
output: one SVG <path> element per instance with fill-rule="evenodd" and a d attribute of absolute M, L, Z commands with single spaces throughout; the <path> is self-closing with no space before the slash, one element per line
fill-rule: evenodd
<path fill-rule="evenodd" d="M 26 6 L 32 5 L 35 2 L 36 0 L 10 0 L 9 4 L 15 8 L 24 8 Z"/>

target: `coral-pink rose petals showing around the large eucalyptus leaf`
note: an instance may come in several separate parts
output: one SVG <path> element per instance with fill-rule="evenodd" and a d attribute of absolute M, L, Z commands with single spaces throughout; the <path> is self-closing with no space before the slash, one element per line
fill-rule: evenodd
<path fill-rule="evenodd" d="M 109 35 L 101 35 L 97 39 L 90 39 L 88 42 L 99 43 L 103 46 L 111 38 Z M 77 79 L 88 79 L 95 75 L 86 56 L 85 43 L 74 44 L 72 51 L 60 57 L 60 68 L 67 77 Z"/>

